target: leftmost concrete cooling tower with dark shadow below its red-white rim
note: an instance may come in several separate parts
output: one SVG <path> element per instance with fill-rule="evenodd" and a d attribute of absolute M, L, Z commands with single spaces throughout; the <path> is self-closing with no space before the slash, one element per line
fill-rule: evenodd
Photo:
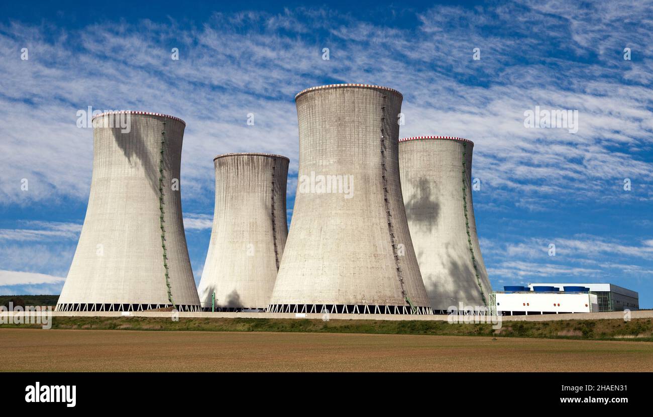
<path fill-rule="evenodd" d="M 157 113 L 93 118 L 91 193 L 57 310 L 199 310 L 180 197 L 184 127 Z"/>

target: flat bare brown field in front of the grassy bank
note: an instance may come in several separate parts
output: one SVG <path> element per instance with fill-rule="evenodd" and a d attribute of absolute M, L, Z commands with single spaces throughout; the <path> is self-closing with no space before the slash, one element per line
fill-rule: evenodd
<path fill-rule="evenodd" d="M 653 344 L 338 333 L 0 329 L 0 371 L 653 371 Z"/>

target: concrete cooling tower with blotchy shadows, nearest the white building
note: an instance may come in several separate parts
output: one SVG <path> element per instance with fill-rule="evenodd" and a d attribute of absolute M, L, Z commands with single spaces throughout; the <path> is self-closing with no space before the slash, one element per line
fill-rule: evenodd
<path fill-rule="evenodd" d="M 431 307 L 486 307 L 492 292 L 471 201 L 473 142 L 445 136 L 400 139 L 404 203 Z"/>

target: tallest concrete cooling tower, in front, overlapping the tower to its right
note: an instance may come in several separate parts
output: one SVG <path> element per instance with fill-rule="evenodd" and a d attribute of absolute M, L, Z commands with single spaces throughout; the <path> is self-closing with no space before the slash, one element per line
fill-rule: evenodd
<path fill-rule="evenodd" d="M 295 101 L 298 186 L 268 311 L 430 314 L 399 180 L 402 95 L 335 84 Z"/>

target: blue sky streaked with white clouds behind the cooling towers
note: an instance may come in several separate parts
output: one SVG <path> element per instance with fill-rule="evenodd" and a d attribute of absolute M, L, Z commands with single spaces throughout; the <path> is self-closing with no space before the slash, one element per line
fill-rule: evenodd
<path fill-rule="evenodd" d="M 213 156 L 288 156 L 291 215 L 295 93 L 360 82 L 404 94 L 402 137 L 475 142 L 474 207 L 495 288 L 612 282 L 653 308 L 652 41 L 650 1 L 5 2 L 0 293 L 58 293 L 63 285 L 93 156 L 78 110 L 146 110 L 187 122 L 182 199 L 199 282 Z M 524 112 L 535 106 L 578 110 L 577 133 L 525 127 Z"/>

